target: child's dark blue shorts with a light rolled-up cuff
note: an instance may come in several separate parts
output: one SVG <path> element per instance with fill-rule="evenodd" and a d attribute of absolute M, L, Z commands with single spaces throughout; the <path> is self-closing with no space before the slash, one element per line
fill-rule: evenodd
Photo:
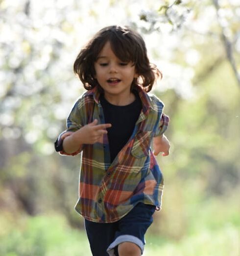
<path fill-rule="evenodd" d="M 152 224 L 154 211 L 154 205 L 139 203 L 117 222 L 96 223 L 85 219 L 93 256 L 118 256 L 118 245 L 123 242 L 137 244 L 143 254 L 144 234 Z"/>

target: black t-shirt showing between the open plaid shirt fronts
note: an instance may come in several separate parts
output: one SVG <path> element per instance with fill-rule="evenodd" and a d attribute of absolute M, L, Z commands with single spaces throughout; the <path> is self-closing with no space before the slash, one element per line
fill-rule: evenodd
<path fill-rule="evenodd" d="M 135 101 L 125 106 L 113 105 L 107 102 L 103 95 L 100 96 L 105 123 L 112 124 L 112 127 L 107 129 L 111 162 L 132 135 L 142 110 L 142 102 L 138 93 L 134 92 L 134 95 Z"/>

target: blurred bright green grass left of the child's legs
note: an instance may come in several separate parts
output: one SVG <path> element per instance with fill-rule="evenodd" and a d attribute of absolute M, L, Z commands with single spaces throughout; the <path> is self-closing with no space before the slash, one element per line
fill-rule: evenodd
<path fill-rule="evenodd" d="M 6 216 L 4 216 L 6 217 Z M 91 255 L 83 232 L 72 230 L 61 215 L 45 215 L 15 220 L 0 218 L 0 255 L 4 256 L 79 256 Z"/>

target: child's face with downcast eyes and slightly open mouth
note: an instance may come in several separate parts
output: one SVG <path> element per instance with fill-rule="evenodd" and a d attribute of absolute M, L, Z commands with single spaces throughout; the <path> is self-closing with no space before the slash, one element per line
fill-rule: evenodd
<path fill-rule="evenodd" d="M 105 98 L 116 100 L 130 96 L 130 88 L 134 78 L 138 75 L 132 62 L 122 62 L 112 51 L 107 42 L 97 56 L 94 63 L 96 79 L 104 90 Z"/>

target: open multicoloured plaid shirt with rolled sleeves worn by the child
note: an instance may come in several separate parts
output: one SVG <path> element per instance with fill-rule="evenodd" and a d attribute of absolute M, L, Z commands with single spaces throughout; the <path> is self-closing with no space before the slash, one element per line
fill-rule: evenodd
<path fill-rule="evenodd" d="M 100 143 L 84 144 L 71 154 L 82 152 L 75 210 L 87 220 L 118 221 L 139 202 L 156 205 L 157 210 L 161 208 L 163 175 L 151 144 L 154 136 L 165 132 L 169 119 L 163 114 L 164 104 L 156 96 L 148 95 L 140 86 L 136 89 L 143 109 L 131 137 L 114 161 L 110 161 L 107 134 Z M 67 119 L 67 130 L 59 135 L 56 144 L 62 145 L 64 138 L 94 119 L 98 124 L 105 123 L 96 87 L 75 102 Z M 60 151 L 60 154 L 66 153 Z"/>

